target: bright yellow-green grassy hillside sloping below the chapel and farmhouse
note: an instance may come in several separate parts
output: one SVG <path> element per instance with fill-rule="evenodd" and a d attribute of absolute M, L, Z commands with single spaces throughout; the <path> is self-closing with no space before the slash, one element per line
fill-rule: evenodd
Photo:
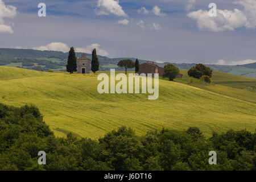
<path fill-rule="evenodd" d="M 256 128 L 252 102 L 166 80 L 159 80 L 158 100 L 148 100 L 148 94 L 99 94 L 99 82 L 93 73 L 0 67 L 0 102 L 38 106 L 57 136 L 72 132 L 96 139 L 122 125 L 140 135 L 161 127 L 186 130 L 196 126 L 207 136 L 212 131 Z"/>

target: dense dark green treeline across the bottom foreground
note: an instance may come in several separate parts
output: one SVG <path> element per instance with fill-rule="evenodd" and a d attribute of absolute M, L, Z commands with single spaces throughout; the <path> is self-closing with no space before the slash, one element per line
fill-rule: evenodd
<path fill-rule="evenodd" d="M 255 170 L 256 134 L 246 130 L 213 133 L 196 127 L 160 129 L 142 137 L 120 127 L 92 140 L 56 138 L 35 106 L 0 104 L 1 170 Z M 46 165 L 38 152 L 46 151 Z M 209 151 L 217 165 L 209 165 Z"/>

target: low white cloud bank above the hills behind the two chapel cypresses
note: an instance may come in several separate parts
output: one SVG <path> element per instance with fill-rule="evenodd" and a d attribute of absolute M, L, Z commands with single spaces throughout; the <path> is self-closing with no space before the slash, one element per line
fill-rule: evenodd
<path fill-rule="evenodd" d="M 96 48 L 97 54 L 101 56 L 108 56 L 109 53 L 105 50 L 99 48 L 100 44 L 91 44 L 90 46 L 86 47 L 77 47 L 75 48 L 76 52 L 84 52 L 84 53 L 92 53 L 92 50 Z M 61 52 L 68 52 L 70 47 L 67 44 L 62 42 L 52 42 L 47 44 L 47 46 L 39 46 L 33 47 L 32 49 L 40 50 L 40 51 L 61 51 Z"/>

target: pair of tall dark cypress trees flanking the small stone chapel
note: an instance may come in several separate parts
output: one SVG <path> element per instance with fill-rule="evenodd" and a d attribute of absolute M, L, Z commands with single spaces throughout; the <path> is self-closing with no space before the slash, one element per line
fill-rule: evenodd
<path fill-rule="evenodd" d="M 67 72 L 69 73 L 73 73 L 73 72 L 77 72 L 77 64 L 76 64 L 76 52 L 75 49 L 73 47 L 70 48 L 70 51 L 68 53 L 68 64 L 66 65 L 67 68 Z M 98 61 L 98 57 L 97 57 L 97 53 L 96 53 L 96 48 L 93 49 L 92 51 L 92 72 L 96 73 L 99 70 L 100 67 L 100 63 Z"/>

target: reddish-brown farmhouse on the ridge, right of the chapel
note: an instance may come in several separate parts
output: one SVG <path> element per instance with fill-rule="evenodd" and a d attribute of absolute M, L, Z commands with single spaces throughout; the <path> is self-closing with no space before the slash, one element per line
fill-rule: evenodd
<path fill-rule="evenodd" d="M 154 62 L 148 63 L 148 61 L 147 61 L 146 63 L 142 63 L 139 65 L 139 75 L 141 75 L 141 73 L 145 73 L 146 75 L 148 73 L 152 73 L 152 74 L 158 73 L 159 77 L 162 77 L 163 72 L 164 72 L 164 68 L 159 67 Z M 176 76 L 176 78 L 182 78 L 182 77 L 183 77 L 183 75 L 180 73 Z"/>

